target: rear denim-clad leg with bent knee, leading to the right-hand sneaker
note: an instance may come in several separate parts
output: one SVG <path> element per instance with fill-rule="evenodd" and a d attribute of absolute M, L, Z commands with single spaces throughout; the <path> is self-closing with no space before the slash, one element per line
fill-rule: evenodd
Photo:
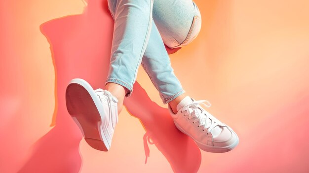
<path fill-rule="evenodd" d="M 200 31 L 201 16 L 192 0 L 155 0 L 153 11 L 154 23 L 142 66 L 163 104 L 169 104 L 176 113 L 177 104 L 187 95 L 173 72 L 164 44 L 172 48 L 192 42 Z"/>

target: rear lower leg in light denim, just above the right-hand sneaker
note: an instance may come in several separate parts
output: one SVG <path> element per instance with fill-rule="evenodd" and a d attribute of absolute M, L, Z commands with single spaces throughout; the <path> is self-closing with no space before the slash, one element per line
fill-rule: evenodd
<path fill-rule="evenodd" d="M 176 107 L 177 102 L 179 103 L 185 97 L 185 90 L 174 74 L 168 53 L 154 21 L 141 64 L 159 92 L 163 104 L 172 103 L 170 105 Z"/>

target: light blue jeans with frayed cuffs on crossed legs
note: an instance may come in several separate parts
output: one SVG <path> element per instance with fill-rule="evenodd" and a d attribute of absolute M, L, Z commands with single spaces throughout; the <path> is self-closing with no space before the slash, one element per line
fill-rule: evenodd
<path fill-rule="evenodd" d="M 105 85 L 122 85 L 129 97 L 142 65 L 163 104 L 185 93 L 164 44 L 184 46 L 198 35 L 201 15 L 193 0 L 108 0 L 108 8 L 115 24 Z"/>

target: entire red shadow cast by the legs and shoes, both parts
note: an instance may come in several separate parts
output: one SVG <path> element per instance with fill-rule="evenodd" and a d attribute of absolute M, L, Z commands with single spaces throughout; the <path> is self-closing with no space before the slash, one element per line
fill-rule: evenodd
<path fill-rule="evenodd" d="M 104 86 L 110 63 L 113 24 L 106 0 L 88 0 L 82 14 L 41 24 L 40 31 L 50 44 L 55 67 L 56 104 L 51 123 L 54 127 L 33 145 L 20 173 L 79 172 L 82 162 L 78 148 L 82 135 L 66 109 L 65 90 L 72 78 L 83 78 L 93 88 Z M 168 52 L 177 50 L 168 49 Z M 197 172 L 201 162 L 199 148 L 191 138 L 176 129 L 168 110 L 152 102 L 138 82 L 134 84 L 131 97 L 125 99 L 124 106 L 132 116 L 141 120 L 146 130 L 144 138 L 147 140 L 148 136 L 153 140 L 174 172 Z M 148 155 L 147 146 L 146 141 Z"/>

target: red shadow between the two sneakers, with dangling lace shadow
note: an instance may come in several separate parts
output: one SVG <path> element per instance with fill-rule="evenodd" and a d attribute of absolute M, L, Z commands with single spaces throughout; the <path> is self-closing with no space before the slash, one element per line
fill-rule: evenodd
<path fill-rule="evenodd" d="M 176 128 L 168 109 L 151 101 L 138 82 L 134 84 L 134 91 L 131 97 L 124 100 L 124 106 L 132 116 L 140 119 L 146 130 L 145 163 L 150 152 L 149 142 L 161 151 L 175 173 L 196 173 L 201 163 L 201 153 L 194 141 Z"/>

